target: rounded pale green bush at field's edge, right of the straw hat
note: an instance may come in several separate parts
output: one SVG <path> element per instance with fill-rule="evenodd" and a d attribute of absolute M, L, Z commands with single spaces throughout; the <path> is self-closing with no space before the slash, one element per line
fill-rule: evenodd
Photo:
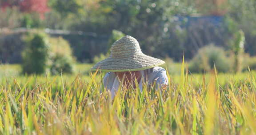
<path fill-rule="evenodd" d="M 196 73 L 211 71 L 214 64 L 219 72 L 228 72 L 232 62 L 222 48 L 209 45 L 199 49 L 189 64 L 189 70 Z"/>

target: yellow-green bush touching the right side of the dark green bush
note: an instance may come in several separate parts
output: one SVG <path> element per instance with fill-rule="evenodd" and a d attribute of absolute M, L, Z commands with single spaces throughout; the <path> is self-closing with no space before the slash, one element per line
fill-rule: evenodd
<path fill-rule="evenodd" d="M 72 49 L 68 41 L 62 37 L 49 38 L 51 73 L 53 75 L 62 73 L 72 73 L 74 71 L 75 59 L 72 56 Z"/>

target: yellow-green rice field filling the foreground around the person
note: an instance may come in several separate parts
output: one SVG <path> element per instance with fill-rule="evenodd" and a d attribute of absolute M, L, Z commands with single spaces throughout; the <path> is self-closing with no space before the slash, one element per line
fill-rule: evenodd
<path fill-rule="evenodd" d="M 169 75 L 169 86 L 119 90 L 103 73 L 0 77 L 1 135 L 255 135 L 255 72 Z M 101 92 L 100 92 L 101 91 Z"/>

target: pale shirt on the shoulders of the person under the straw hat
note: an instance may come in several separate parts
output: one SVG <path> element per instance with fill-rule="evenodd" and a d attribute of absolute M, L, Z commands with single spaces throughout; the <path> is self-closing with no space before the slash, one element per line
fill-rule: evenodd
<path fill-rule="evenodd" d="M 156 88 L 159 88 L 159 86 L 165 84 L 168 84 L 168 78 L 166 75 L 166 71 L 162 67 L 152 67 L 150 69 L 141 70 L 141 79 L 139 81 L 139 87 L 140 91 L 142 92 L 142 85 L 143 85 L 143 79 L 144 82 L 148 81 L 148 85 L 152 84 L 154 81 L 156 81 Z M 104 87 L 107 88 L 107 90 L 110 91 L 112 99 L 116 95 L 116 91 L 119 88 L 120 80 L 113 72 L 108 72 L 103 79 Z"/>

